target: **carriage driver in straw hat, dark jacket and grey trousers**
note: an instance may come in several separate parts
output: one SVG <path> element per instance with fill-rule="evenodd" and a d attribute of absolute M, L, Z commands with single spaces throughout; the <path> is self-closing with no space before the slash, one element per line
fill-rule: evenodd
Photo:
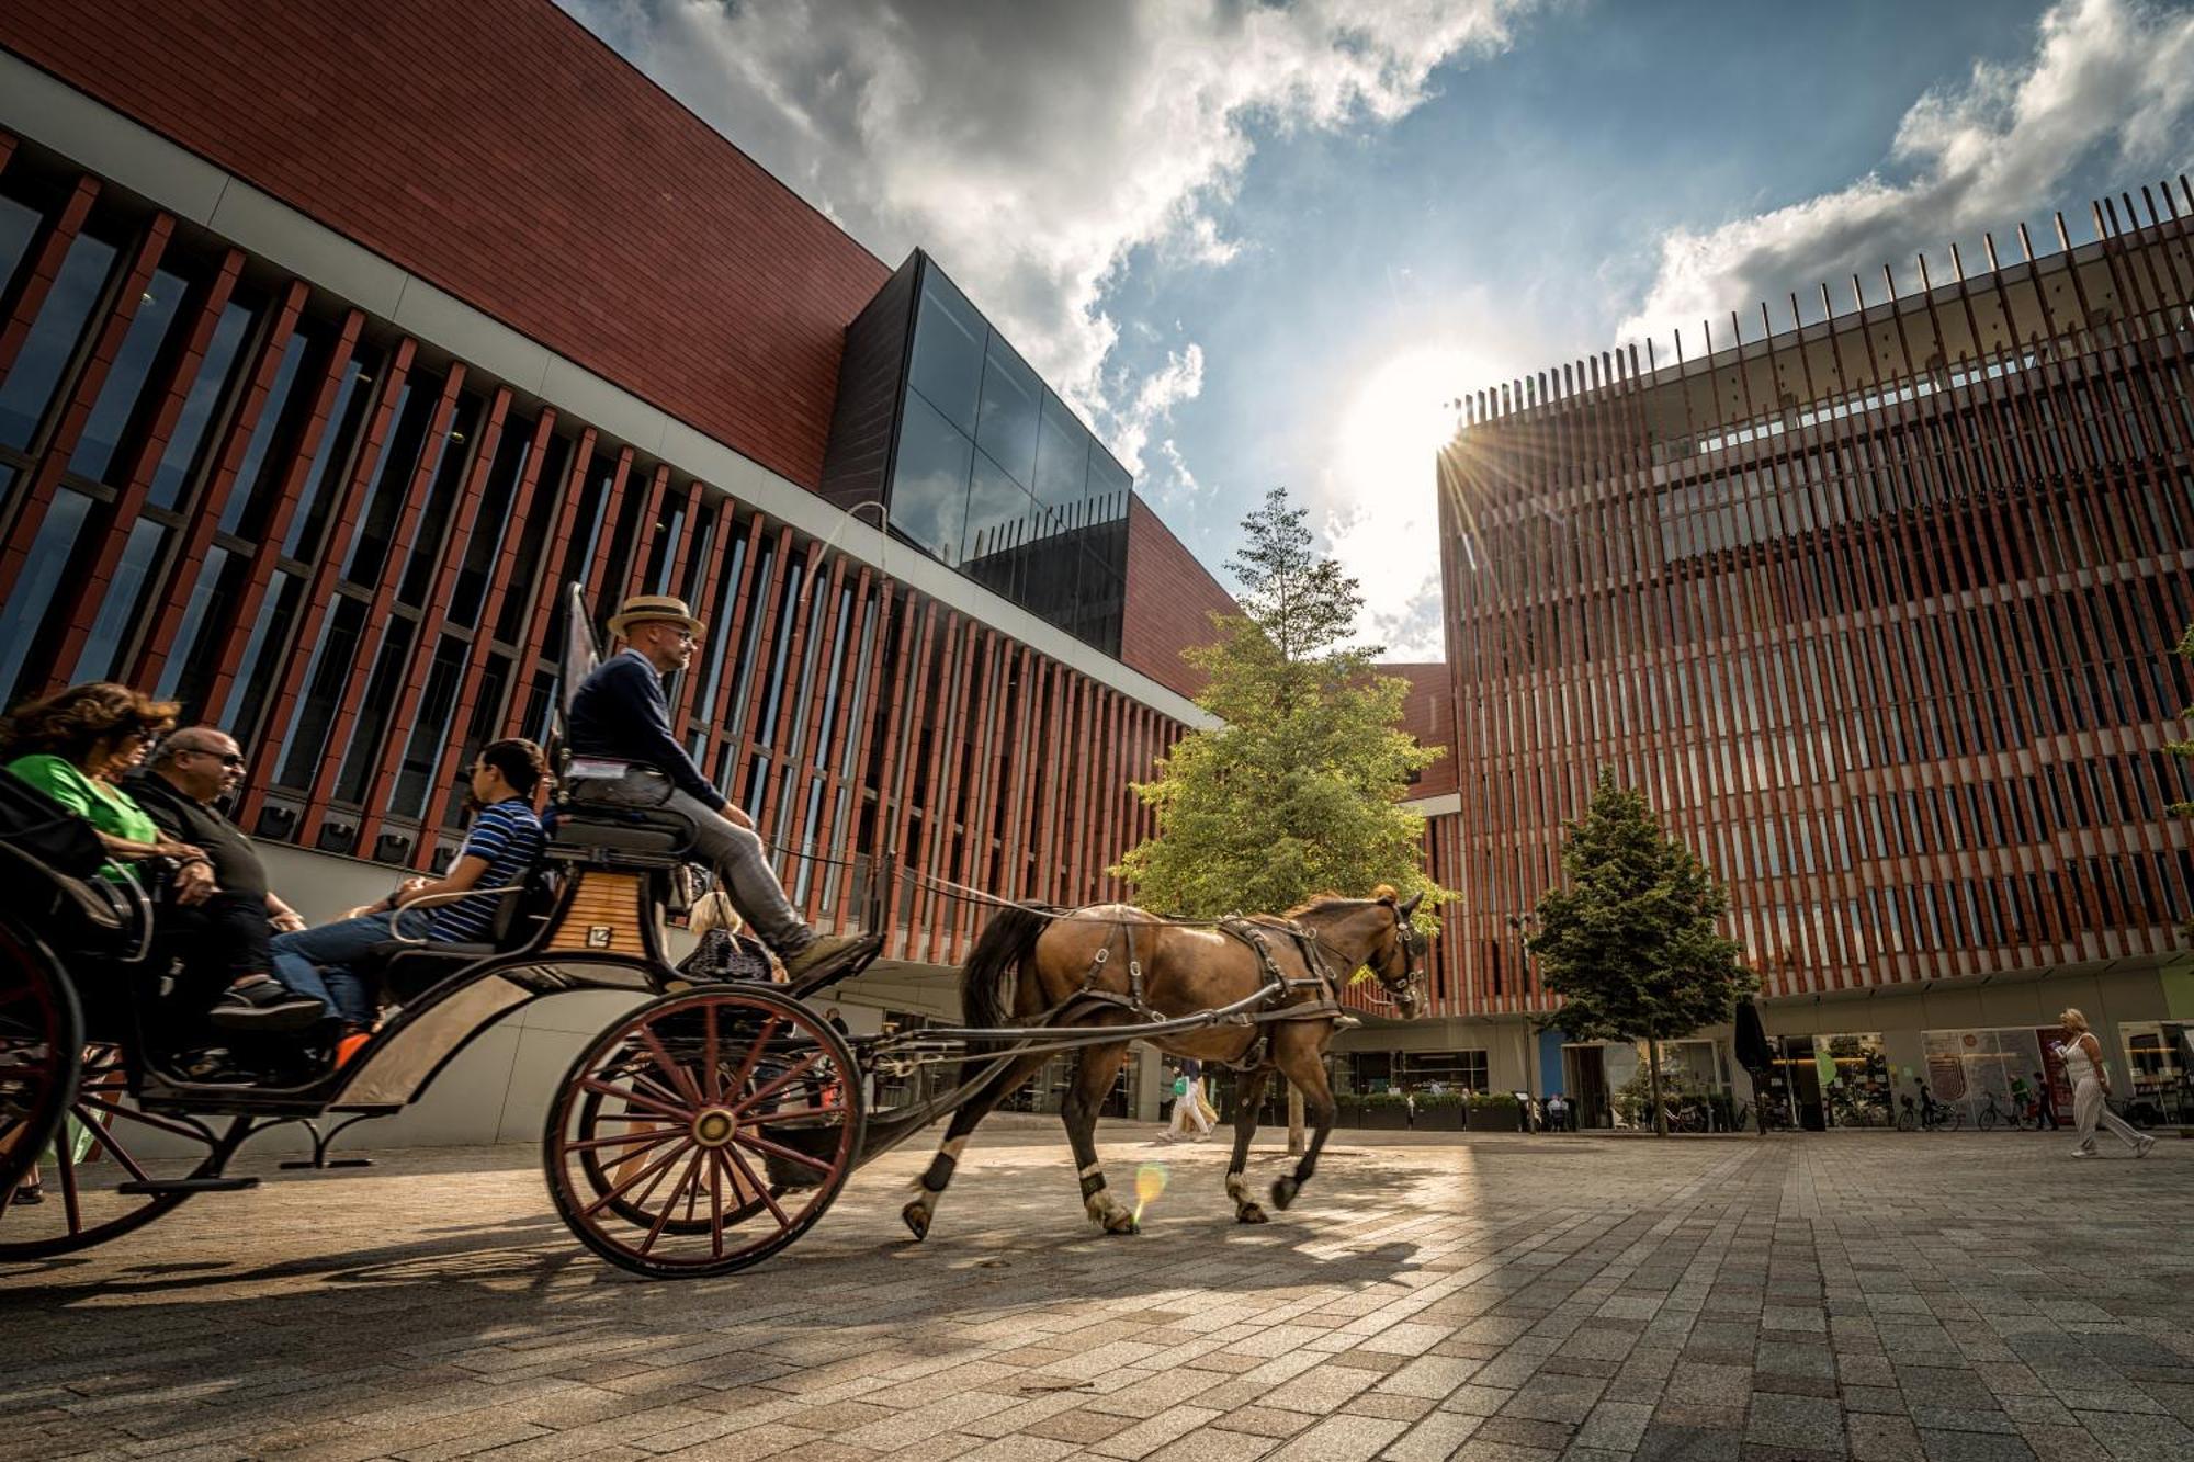
<path fill-rule="evenodd" d="M 570 705 L 568 740 L 575 757 L 606 757 L 630 766 L 617 781 L 575 784 L 570 797 L 581 803 L 667 808 L 685 814 L 698 834 L 693 852 L 715 865 L 717 882 L 783 961 L 785 977 L 799 979 L 862 940 L 818 935 L 799 915 L 777 882 L 753 819 L 726 803 L 671 735 L 663 676 L 693 663 L 693 645 L 702 630 L 702 621 L 687 612 L 685 599 L 667 595 L 625 599 L 610 617 L 610 634 L 623 637 L 625 650 L 597 665 L 579 687 Z"/>

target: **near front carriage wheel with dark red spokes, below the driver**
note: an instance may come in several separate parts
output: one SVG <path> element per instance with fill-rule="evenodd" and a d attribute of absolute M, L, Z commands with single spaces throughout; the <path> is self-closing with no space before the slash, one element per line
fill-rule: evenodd
<path fill-rule="evenodd" d="M 588 1249 L 649 1278 L 746 1269 L 805 1234 L 860 1155 L 853 1054 L 768 986 L 625 1016 L 548 1106 L 548 1196 Z"/>

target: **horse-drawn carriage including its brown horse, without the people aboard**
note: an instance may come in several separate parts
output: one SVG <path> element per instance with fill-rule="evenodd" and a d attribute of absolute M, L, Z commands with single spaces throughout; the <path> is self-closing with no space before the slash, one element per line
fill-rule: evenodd
<path fill-rule="evenodd" d="M 147 1058 L 162 1001 L 149 900 L 94 876 L 88 836 L 77 858 L 66 836 L 0 836 L 0 1264 L 118 1238 L 202 1192 L 252 1188 L 257 1177 L 228 1168 L 283 1124 L 314 1137 L 312 1159 L 285 1166 L 327 1166 L 342 1128 L 417 1102 L 485 1030 L 573 990 L 636 1003 L 584 1045 L 548 1102 L 548 1192 L 579 1242 L 643 1275 L 728 1273 L 777 1253 L 853 1168 L 950 1115 L 904 1210 L 924 1236 L 974 1124 L 1047 1056 L 1075 1049 L 1064 1115 L 1084 1205 L 1106 1229 L 1132 1232 L 1093 1142 L 1097 1100 L 1130 1041 L 1235 1065 L 1244 1111 L 1273 1069 L 1305 1089 L 1323 1120 L 1303 1163 L 1273 1185 L 1286 1207 L 1332 1120 L 1319 1056 L 1345 1019 L 1341 981 L 1367 966 L 1415 1012 L 1415 900 L 1332 898 L 1288 920 L 1205 924 L 1007 904 L 961 972 L 963 1027 L 847 1036 L 812 997 L 867 968 L 880 937 L 796 983 L 702 983 L 669 964 L 665 911 L 691 841 L 674 812 L 559 806 L 540 867 L 496 889 L 491 942 L 377 951 L 373 972 L 402 1003 L 347 1060 L 294 1080 L 206 1084 Z M 889 874 L 873 858 L 869 929 L 889 907 L 878 898 Z M 957 1080 L 875 1106 L 878 1076 L 930 1065 L 957 1067 Z M 1242 1185 L 1246 1144 L 1237 1128 L 1226 1188 L 1253 1223 L 1264 1212 Z M 29 1205 L 20 1183 L 35 1166 L 46 1181 Z"/>

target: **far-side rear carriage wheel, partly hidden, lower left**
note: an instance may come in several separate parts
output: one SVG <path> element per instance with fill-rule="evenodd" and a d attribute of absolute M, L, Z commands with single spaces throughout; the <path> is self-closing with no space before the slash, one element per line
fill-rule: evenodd
<path fill-rule="evenodd" d="M 121 1047 L 88 1045 L 68 1117 L 39 1155 L 44 1201 L 29 1207 L 18 1188 L 0 1227 L 0 1264 L 90 1249 L 140 1229 L 193 1190 L 129 1188 L 215 1179 L 235 1150 L 235 1128 L 217 1135 L 195 1117 L 132 1106 Z"/>

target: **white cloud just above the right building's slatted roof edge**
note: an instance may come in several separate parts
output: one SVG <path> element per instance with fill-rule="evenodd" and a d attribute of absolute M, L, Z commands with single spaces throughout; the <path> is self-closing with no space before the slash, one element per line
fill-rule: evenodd
<path fill-rule="evenodd" d="M 2187 162 L 2194 108 L 2194 13 L 2141 0 L 2060 0 L 2043 15 L 2034 55 L 2018 68 L 1979 64 L 1957 88 L 1904 112 L 1887 162 L 1845 189 L 1718 228 L 1661 239 L 1646 303 L 1619 338 L 1667 338 L 1698 323 L 1727 329 L 1729 312 L 1784 301 L 1817 281 L 1847 307 L 1850 277 L 1878 290 L 1880 268 L 1913 279 L 1929 255 L 1946 277 L 1946 244 L 2005 230 L 2047 209 L 2089 160 L 2137 178 Z M 1839 288 L 1841 283 L 1841 288 Z M 1779 314 L 1779 312 L 1777 312 Z"/>

